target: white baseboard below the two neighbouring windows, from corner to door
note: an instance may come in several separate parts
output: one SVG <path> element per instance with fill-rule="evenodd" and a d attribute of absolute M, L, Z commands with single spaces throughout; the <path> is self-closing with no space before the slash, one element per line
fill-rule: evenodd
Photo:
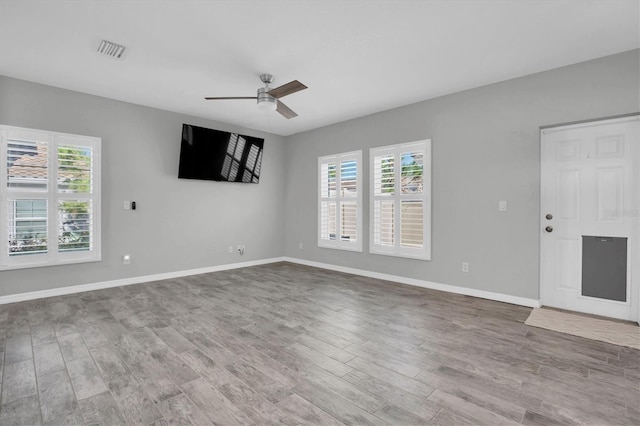
<path fill-rule="evenodd" d="M 376 278 L 385 281 L 393 281 L 400 284 L 408 284 L 416 287 L 429 288 L 432 290 L 446 291 L 449 293 L 464 294 L 465 296 L 479 297 L 481 299 L 495 300 L 497 302 L 511 303 L 513 305 L 527 306 L 530 308 L 539 308 L 540 301 L 537 299 L 528 299 L 526 297 L 511 296 L 502 293 L 493 293 L 491 291 L 476 290 L 473 288 L 459 287 L 449 284 L 434 283 L 431 281 L 418 280 L 415 278 L 401 277 L 398 275 L 381 274 L 379 272 L 367 271 L 364 269 L 348 268 L 345 266 L 336 266 L 328 263 L 313 262 L 310 260 L 298 259 L 295 257 L 285 257 L 285 262 L 298 263 L 300 265 L 313 266 L 315 268 L 329 269 L 347 274 L 360 275 L 363 277 Z"/>

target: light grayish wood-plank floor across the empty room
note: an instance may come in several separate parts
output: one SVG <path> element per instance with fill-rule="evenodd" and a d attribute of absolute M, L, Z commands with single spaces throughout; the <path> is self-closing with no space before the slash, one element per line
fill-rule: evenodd
<path fill-rule="evenodd" d="M 0 424 L 640 424 L 640 351 L 280 263 L 0 306 Z"/>

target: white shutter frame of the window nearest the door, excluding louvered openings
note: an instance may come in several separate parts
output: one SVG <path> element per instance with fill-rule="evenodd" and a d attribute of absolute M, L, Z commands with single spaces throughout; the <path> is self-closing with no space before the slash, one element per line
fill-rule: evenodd
<path fill-rule="evenodd" d="M 401 192 L 401 173 L 402 173 L 402 154 L 407 152 L 421 152 L 423 154 L 423 187 L 421 194 L 402 194 Z M 394 156 L 394 192 L 393 195 L 376 195 L 375 192 L 375 174 L 376 174 L 376 157 L 384 155 Z M 395 145 L 386 145 L 369 150 L 369 253 L 383 256 L 395 256 L 417 260 L 431 260 L 431 139 L 422 139 L 413 142 L 400 143 Z M 400 240 L 401 233 L 401 214 L 400 207 L 402 201 L 421 201 L 422 210 L 422 232 L 423 246 L 421 248 L 402 247 Z M 375 203 L 376 201 L 393 201 L 394 212 L 394 241 L 393 246 L 385 246 L 376 244 L 376 221 L 375 221 Z"/>

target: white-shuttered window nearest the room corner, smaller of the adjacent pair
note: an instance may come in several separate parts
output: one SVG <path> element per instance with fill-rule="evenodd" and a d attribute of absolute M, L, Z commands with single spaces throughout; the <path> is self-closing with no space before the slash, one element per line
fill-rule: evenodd
<path fill-rule="evenodd" d="M 318 246 L 362 251 L 362 151 L 318 159 Z"/>

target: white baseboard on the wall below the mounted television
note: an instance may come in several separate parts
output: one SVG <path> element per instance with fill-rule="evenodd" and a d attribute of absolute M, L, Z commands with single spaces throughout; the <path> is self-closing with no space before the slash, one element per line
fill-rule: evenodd
<path fill-rule="evenodd" d="M 99 283 L 80 284 L 69 287 L 52 288 L 50 290 L 31 291 L 28 293 L 9 294 L 0 296 L 0 305 L 7 303 L 23 302 L 25 300 L 42 299 L 44 297 L 63 296 L 65 294 L 83 293 L 85 291 L 102 290 L 104 288 L 121 287 L 131 284 L 140 284 L 151 281 L 168 280 L 172 278 L 186 277 L 189 275 L 206 274 L 209 272 L 226 271 L 229 269 L 246 268 L 248 266 L 265 265 L 267 263 L 283 262 L 284 257 L 270 259 L 251 260 L 248 262 L 230 263 L 226 265 L 208 266 L 206 268 L 188 269 L 183 271 L 165 272 L 162 274 L 144 275 L 139 277 L 123 278 Z"/>

